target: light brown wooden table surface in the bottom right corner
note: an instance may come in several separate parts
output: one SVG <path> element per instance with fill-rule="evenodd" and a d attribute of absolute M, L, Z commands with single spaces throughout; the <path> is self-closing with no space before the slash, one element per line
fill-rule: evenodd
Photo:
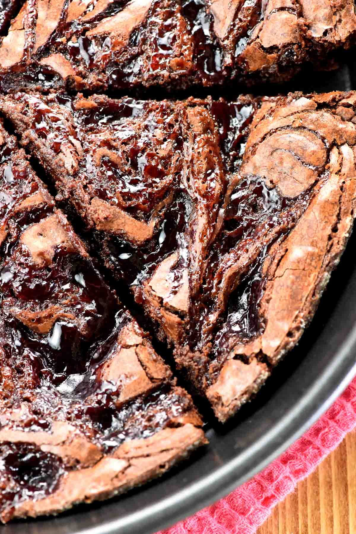
<path fill-rule="evenodd" d="M 356 431 L 274 508 L 257 534 L 356 534 Z"/>

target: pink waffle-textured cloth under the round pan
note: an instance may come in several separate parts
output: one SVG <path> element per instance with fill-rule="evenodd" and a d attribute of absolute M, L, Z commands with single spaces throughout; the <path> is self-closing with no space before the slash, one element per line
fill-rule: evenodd
<path fill-rule="evenodd" d="M 252 480 L 157 534 L 254 534 L 272 508 L 356 427 L 356 378 L 301 438 Z"/>

